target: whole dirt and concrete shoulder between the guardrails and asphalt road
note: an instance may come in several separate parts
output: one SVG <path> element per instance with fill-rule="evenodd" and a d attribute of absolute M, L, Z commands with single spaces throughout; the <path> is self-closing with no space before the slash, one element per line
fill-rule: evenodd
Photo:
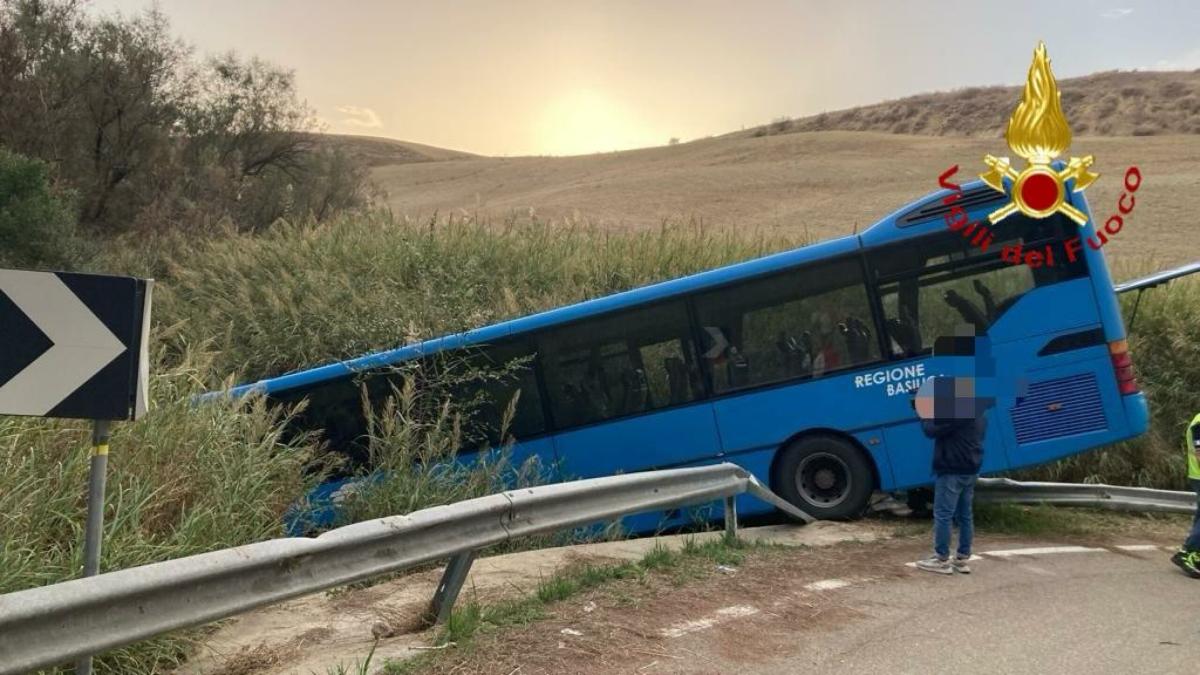
<path fill-rule="evenodd" d="M 1028 542 L 1169 545 L 1182 536 L 1184 520 L 980 507 L 977 528 L 979 546 L 991 548 Z M 742 539 L 758 544 L 730 560 L 720 551 L 716 557 L 676 556 L 670 563 L 653 555 L 656 549 L 679 551 L 719 533 L 485 557 L 475 562 L 457 605 L 474 607 L 479 626 L 452 646 L 431 649 L 446 633 L 419 623 L 442 574 L 436 568 L 246 614 L 208 635 L 178 673 L 310 675 L 338 668 L 358 673 L 356 665 L 372 649 L 371 667 L 364 673 L 727 671 L 725 659 L 752 659 L 769 651 L 772 640 L 786 640 L 797 631 L 834 631 L 862 619 L 860 609 L 832 602 L 826 591 L 842 583 L 886 584 L 911 574 L 902 563 L 925 554 L 929 527 L 928 520 L 889 519 L 744 528 Z M 564 571 L 636 567 L 647 560 L 654 565 L 634 574 L 608 574 L 594 587 L 563 593 L 565 599 L 554 597 L 553 581 Z M 540 595 L 547 596 L 546 602 L 515 611 L 514 603 Z M 488 617 L 494 619 L 497 608 L 506 614 L 492 622 Z M 725 628 L 707 629 L 716 625 Z M 715 661 L 709 664 L 706 658 Z"/>

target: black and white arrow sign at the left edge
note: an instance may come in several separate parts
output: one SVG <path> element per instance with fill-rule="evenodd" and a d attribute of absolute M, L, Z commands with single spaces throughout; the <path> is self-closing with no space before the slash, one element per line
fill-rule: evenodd
<path fill-rule="evenodd" d="M 151 283 L 0 269 L 0 414 L 139 417 Z"/>

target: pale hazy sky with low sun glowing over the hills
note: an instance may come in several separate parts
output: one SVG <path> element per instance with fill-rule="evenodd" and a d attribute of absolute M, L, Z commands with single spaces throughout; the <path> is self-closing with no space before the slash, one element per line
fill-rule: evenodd
<path fill-rule="evenodd" d="M 94 0 L 96 13 L 149 0 Z M 1200 68 L 1194 0 L 160 0 L 293 68 L 326 131 L 482 155 L 662 145 L 961 86 Z"/>

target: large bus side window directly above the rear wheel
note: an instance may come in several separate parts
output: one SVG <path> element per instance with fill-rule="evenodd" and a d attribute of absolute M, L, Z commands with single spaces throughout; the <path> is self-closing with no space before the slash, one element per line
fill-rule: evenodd
<path fill-rule="evenodd" d="M 821 377 L 880 359 L 857 259 L 701 293 L 696 312 L 715 393 Z"/>

